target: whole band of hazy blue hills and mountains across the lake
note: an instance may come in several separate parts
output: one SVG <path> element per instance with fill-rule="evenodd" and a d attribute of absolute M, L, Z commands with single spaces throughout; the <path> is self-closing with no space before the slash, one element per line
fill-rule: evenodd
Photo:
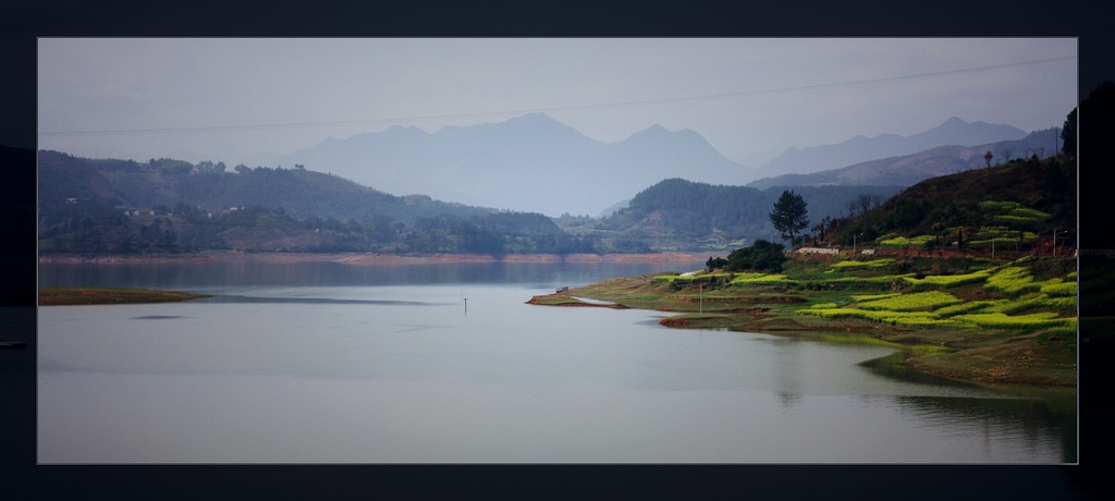
<path fill-rule="evenodd" d="M 921 180 L 982 166 L 986 151 L 1021 156 L 1048 142 L 1051 153 L 1047 135 L 950 118 L 906 138 L 791 148 L 770 170 L 799 173 L 762 180 L 766 167 L 727 160 L 694 131 L 656 125 L 605 144 L 544 114 L 433 134 L 395 126 L 330 137 L 255 168 L 40 152 L 41 249 L 717 251 L 772 238 L 767 212 L 783 187 L 796 186 L 811 218 L 843 218 L 849 200 L 885 200 Z M 809 160 L 880 158 L 927 145 L 830 171 L 814 172 L 827 164 Z"/>

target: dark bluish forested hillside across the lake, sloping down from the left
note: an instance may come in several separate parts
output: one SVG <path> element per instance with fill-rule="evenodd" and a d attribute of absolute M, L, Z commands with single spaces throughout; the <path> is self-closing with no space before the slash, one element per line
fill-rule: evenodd
<path fill-rule="evenodd" d="M 395 196 L 330 174 L 39 153 L 40 252 L 594 252 L 549 218 Z"/>

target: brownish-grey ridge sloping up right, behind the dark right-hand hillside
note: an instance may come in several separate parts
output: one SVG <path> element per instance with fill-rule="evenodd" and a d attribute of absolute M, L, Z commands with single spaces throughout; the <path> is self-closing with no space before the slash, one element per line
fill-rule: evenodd
<path fill-rule="evenodd" d="M 986 167 L 983 155 L 992 154 L 992 165 L 1024 157 L 1027 151 L 1043 151 L 1044 156 L 1054 153 L 1058 139 L 1054 128 L 1035 131 L 1017 141 L 1000 141 L 978 146 L 938 146 L 911 155 L 862 162 L 842 168 L 809 174 L 783 174 L 748 183 L 748 186 L 765 190 L 770 186 L 796 185 L 901 185 L 910 186 L 930 177 L 937 177 L 971 168 Z M 1005 158 L 1006 154 L 1011 158 Z"/>

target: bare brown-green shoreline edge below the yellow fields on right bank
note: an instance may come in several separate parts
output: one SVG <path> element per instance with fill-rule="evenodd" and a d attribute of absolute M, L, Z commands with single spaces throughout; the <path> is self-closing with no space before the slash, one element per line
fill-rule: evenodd
<path fill-rule="evenodd" d="M 832 292 L 752 287 L 717 291 L 692 285 L 655 281 L 656 273 L 622 277 L 531 298 L 539 306 L 574 305 L 573 296 L 612 301 L 629 308 L 676 314 L 659 325 L 679 329 L 727 328 L 747 333 L 789 336 L 835 343 L 866 344 L 894 348 L 872 364 L 899 367 L 925 375 L 973 384 L 1020 385 L 1041 388 L 1074 388 L 1075 364 L 1066 358 L 1066 347 L 1055 335 L 1034 331 L 1010 334 L 1009 329 L 971 327 L 914 328 L 863 318 L 803 316 L 798 305 L 828 300 Z M 869 291 L 864 291 L 869 292 Z M 696 296 L 704 295 L 702 307 Z M 851 295 L 853 291 L 840 292 Z M 791 296 L 797 296 L 797 300 Z M 701 309 L 704 311 L 701 311 Z"/>

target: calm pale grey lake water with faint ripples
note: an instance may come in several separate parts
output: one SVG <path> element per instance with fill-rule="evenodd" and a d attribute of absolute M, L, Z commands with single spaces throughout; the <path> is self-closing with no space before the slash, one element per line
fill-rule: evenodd
<path fill-rule="evenodd" d="M 42 264 L 216 297 L 39 309 L 40 463 L 1063 463 L 1073 392 L 892 350 L 525 305 L 691 264 Z M 465 311 L 467 298 L 467 311 Z"/>

